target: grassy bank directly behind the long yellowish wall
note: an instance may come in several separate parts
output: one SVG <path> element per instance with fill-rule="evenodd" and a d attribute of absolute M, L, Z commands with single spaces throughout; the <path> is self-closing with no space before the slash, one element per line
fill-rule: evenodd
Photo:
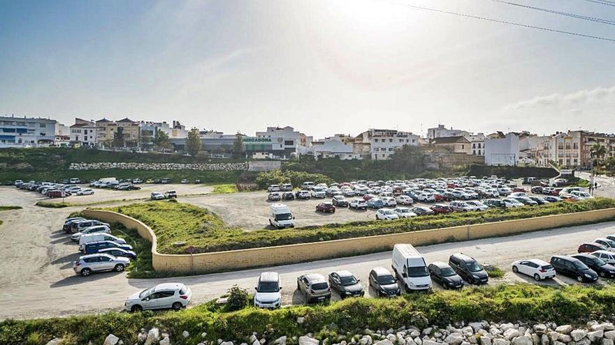
<path fill-rule="evenodd" d="M 135 217 L 152 227 L 158 236 L 159 252 L 183 254 L 185 247 L 189 245 L 196 247 L 196 252 L 217 252 L 498 222 L 612 207 L 615 207 L 614 199 L 599 198 L 577 203 L 563 202 L 538 207 L 526 206 L 514 210 L 490 209 L 484 212 L 414 217 L 391 222 L 372 220 L 328 224 L 321 227 L 249 232 L 227 227 L 215 213 L 189 204 L 157 201 L 107 209 Z M 187 244 L 175 247 L 173 243 L 178 241 L 186 241 Z"/>

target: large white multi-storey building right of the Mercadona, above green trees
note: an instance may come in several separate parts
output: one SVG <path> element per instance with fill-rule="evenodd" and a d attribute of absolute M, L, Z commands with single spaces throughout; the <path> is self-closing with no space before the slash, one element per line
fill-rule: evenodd
<path fill-rule="evenodd" d="M 402 146 L 418 146 L 421 141 L 421 137 L 418 135 L 400 130 L 370 129 L 368 137 L 370 139 L 370 155 L 372 160 L 388 160 Z"/>

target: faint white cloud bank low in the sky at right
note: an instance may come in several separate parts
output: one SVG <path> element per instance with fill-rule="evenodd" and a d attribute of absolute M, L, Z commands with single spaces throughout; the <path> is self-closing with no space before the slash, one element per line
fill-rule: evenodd
<path fill-rule="evenodd" d="M 537 96 L 529 100 L 505 105 L 505 110 L 535 109 L 535 108 L 570 108 L 579 110 L 579 107 L 591 105 L 594 102 L 602 102 L 615 99 L 615 86 L 608 88 L 597 87 L 584 89 L 573 93 L 554 93 L 552 95 Z"/>

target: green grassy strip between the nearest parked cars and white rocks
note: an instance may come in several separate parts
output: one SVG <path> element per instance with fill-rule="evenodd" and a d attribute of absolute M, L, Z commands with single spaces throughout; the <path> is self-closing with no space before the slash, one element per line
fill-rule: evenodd
<path fill-rule="evenodd" d="M 337 335 L 359 334 L 366 327 L 372 330 L 395 329 L 402 325 L 444 327 L 458 321 L 522 320 L 584 325 L 590 319 L 609 317 L 614 308 L 614 286 L 573 285 L 558 289 L 502 284 L 469 287 L 462 291 L 412 293 L 391 299 L 348 298 L 328 305 L 292 306 L 271 311 L 247 307 L 224 312 L 208 302 L 180 312 L 110 312 L 55 319 L 6 320 L 0 323 L 0 344 L 24 344 L 28 339 L 45 344 L 55 336 L 71 337 L 75 344 L 90 341 L 102 344 L 109 333 L 120 337 L 124 344 L 135 344 L 140 328 L 149 330 L 154 325 L 161 332 L 168 332 L 171 343 L 176 345 L 217 339 L 245 342 L 252 332 L 263 335 L 270 344 L 282 335 L 293 337 L 313 332 L 317 339 L 324 340 Z M 296 322 L 299 316 L 305 317 L 304 323 Z M 190 333 L 185 339 L 181 335 L 184 330 Z M 201 339 L 201 332 L 207 332 L 206 339 Z M 333 344 L 332 340 L 328 343 Z"/>

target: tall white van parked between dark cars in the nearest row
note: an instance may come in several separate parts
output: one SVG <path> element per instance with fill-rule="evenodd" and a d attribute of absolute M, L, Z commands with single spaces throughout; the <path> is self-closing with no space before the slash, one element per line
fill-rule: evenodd
<path fill-rule="evenodd" d="M 397 244 L 393 247 L 392 267 L 406 291 L 431 289 L 431 277 L 425 259 L 412 245 Z"/>

